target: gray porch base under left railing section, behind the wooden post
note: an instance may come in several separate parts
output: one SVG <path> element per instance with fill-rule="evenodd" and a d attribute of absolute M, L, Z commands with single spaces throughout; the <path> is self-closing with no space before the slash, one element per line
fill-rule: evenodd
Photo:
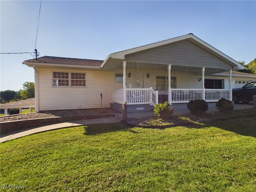
<path fill-rule="evenodd" d="M 111 103 L 110 108 L 123 111 L 122 104 Z M 136 113 L 136 112 L 154 112 L 154 106 L 149 104 L 138 104 L 138 105 L 127 105 L 127 113 Z"/>

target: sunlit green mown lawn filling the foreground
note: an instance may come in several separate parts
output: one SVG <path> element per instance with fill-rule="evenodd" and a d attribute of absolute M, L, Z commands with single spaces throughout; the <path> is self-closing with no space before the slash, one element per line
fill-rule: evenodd
<path fill-rule="evenodd" d="M 80 126 L 0 150 L 10 191 L 256 191 L 256 116 L 163 129 Z"/>

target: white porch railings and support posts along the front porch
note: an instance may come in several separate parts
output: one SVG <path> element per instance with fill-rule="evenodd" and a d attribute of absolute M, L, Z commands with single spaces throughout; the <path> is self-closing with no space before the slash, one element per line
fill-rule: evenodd
<path fill-rule="evenodd" d="M 118 90 L 112 90 L 111 97 L 112 103 L 122 104 L 126 102 L 128 105 L 141 105 L 148 104 L 155 106 L 160 102 L 168 101 L 171 105 L 174 103 L 188 103 L 190 100 L 205 100 L 206 102 L 217 102 L 221 98 L 232 100 L 232 69 L 229 70 L 229 85 L 227 88 L 207 89 L 205 88 L 205 67 L 193 68 L 194 71 L 200 70 L 199 83 L 201 88 L 172 88 L 171 87 L 171 68 L 172 65 L 168 64 L 168 85 L 167 91 L 158 91 L 153 87 L 150 88 L 132 88 L 129 84 L 129 88 L 126 86 L 126 61 L 123 61 L 123 88 Z M 182 70 L 182 67 L 178 66 L 176 69 Z M 184 69 L 184 68 L 183 68 Z M 186 67 L 190 70 L 190 68 Z M 210 69 L 212 70 L 212 69 Z M 130 74 L 128 74 L 130 77 Z M 201 78 L 202 77 L 202 78 Z M 192 80 L 191 80 L 192 81 Z M 195 80 L 194 80 L 195 81 Z M 198 82 L 194 82 L 196 84 Z M 193 84 L 193 83 L 192 83 Z M 188 83 L 191 85 L 191 82 Z M 155 86 L 156 87 L 156 86 Z"/>

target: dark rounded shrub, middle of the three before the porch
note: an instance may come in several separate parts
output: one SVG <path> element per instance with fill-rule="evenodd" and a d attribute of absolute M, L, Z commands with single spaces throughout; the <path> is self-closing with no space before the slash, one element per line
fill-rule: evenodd
<path fill-rule="evenodd" d="M 196 99 L 188 102 L 187 108 L 193 114 L 203 114 L 208 110 L 208 104 L 205 100 Z"/>

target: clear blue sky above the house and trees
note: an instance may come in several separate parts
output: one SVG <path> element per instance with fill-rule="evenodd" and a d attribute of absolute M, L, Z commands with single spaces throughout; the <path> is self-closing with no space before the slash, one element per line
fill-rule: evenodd
<path fill-rule="evenodd" d="M 256 1 L 42 0 L 40 8 L 40 0 L 0 0 L 1 53 L 36 47 L 39 57 L 105 60 L 189 33 L 248 64 L 256 58 Z M 0 90 L 34 82 L 34 69 L 22 64 L 33 58 L 0 54 Z"/>

